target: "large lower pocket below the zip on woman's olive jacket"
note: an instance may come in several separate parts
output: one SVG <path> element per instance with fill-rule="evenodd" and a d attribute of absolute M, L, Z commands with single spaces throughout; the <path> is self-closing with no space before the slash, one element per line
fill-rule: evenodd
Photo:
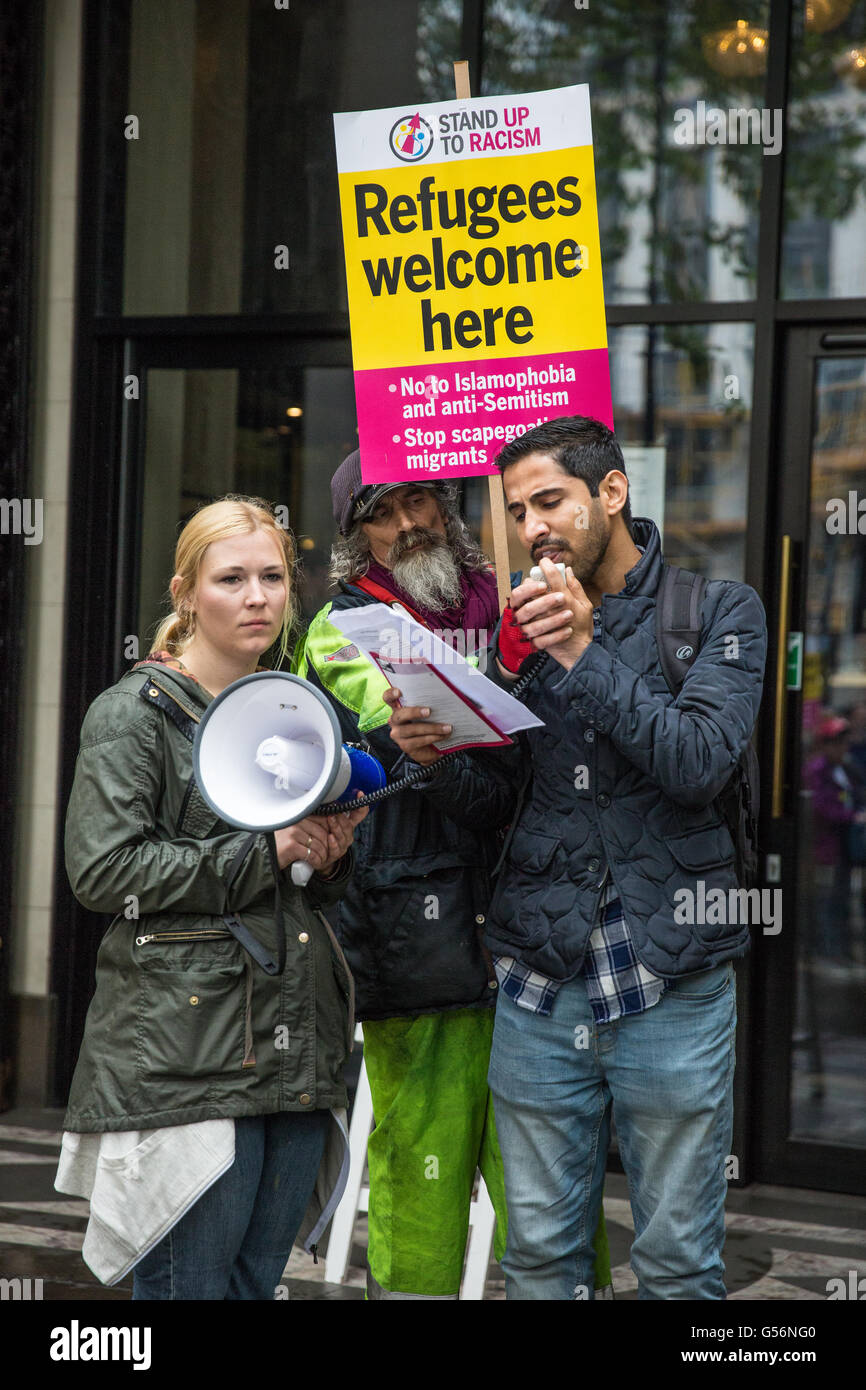
<path fill-rule="evenodd" d="M 138 1074 L 168 1079 L 240 1072 L 249 1045 L 249 1001 L 238 944 L 231 935 L 222 942 L 204 931 L 143 931 L 136 942 L 140 938 L 146 944 L 139 951 Z"/>

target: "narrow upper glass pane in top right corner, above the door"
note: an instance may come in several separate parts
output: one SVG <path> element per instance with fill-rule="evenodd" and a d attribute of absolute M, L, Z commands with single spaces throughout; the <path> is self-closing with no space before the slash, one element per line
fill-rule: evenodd
<path fill-rule="evenodd" d="M 785 133 L 784 299 L 866 295 L 866 0 L 798 4 Z M 863 50 L 863 65 L 856 54 Z"/>

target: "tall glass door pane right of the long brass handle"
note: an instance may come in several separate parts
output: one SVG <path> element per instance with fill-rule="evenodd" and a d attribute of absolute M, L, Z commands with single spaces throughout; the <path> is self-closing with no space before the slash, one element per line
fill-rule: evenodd
<path fill-rule="evenodd" d="M 815 377 L 798 819 L 798 1012 L 791 1040 L 791 1133 L 862 1145 L 866 1143 L 865 357 L 819 359 Z"/>

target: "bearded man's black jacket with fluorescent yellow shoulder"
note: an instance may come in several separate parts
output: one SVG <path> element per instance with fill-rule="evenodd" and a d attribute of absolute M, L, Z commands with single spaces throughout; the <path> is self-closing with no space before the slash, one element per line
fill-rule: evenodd
<path fill-rule="evenodd" d="M 292 666 L 331 699 L 343 739 L 366 742 L 393 781 L 414 763 L 389 735 L 385 678 L 328 620 L 374 602 L 342 585 L 310 623 Z M 457 763 L 445 799 L 434 802 L 425 788 L 398 792 L 356 833 L 356 872 L 331 917 L 354 976 L 359 1019 L 495 1002 L 482 931 L 496 830 L 514 806 L 518 756 L 516 749 L 459 755 Z"/>

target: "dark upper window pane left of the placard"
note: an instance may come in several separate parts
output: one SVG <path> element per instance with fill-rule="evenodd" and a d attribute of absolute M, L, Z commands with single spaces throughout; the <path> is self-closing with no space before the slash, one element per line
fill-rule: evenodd
<path fill-rule="evenodd" d="M 453 96 L 461 13 L 132 0 L 122 313 L 345 311 L 332 113 Z"/>

